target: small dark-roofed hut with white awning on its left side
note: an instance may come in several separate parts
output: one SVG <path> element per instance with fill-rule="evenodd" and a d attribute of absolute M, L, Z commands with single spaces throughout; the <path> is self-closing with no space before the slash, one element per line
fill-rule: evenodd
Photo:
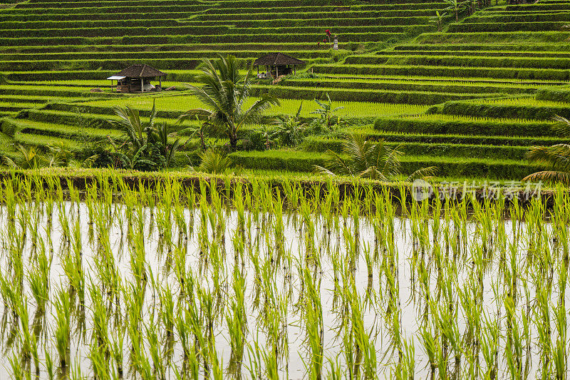
<path fill-rule="evenodd" d="M 162 71 L 148 65 L 133 65 L 125 70 L 110 76 L 111 86 L 117 81 L 117 92 L 120 93 L 145 93 L 147 91 L 162 91 L 162 77 L 166 76 Z M 153 86 L 150 81 L 158 78 L 158 86 Z"/>

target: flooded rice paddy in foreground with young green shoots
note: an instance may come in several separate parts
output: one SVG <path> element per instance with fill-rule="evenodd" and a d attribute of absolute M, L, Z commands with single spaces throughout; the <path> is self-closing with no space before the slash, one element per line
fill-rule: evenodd
<path fill-rule="evenodd" d="M 0 187 L 14 379 L 566 378 L 567 195 L 38 183 Z"/>

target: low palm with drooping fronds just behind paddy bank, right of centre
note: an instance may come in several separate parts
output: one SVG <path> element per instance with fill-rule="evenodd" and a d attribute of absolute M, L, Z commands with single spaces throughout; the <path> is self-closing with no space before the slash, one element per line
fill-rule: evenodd
<path fill-rule="evenodd" d="M 316 170 L 328 175 L 346 175 L 382 181 L 393 180 L 400 174 L 400 157 L 403 153 L 398 147 L 388 147 L 384 140 L 371 143 L 363 135 L 351 133 L 343 141 L 343 153 L 348 158 L 342 158 L 338 153 L 328 150 L 325 155 L 326 168 L 316 165 Z M 437 168 L 433 166 L 416 170 L 408 180 L 428 178 L 434 175 L 436 170 Z"/>

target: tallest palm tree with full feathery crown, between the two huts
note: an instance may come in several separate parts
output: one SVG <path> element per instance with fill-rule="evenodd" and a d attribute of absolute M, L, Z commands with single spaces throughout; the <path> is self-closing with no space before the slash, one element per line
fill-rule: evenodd
<path fill-rule="evenodd" d="M 199 116 L 212 128 L 219 128 L 229 138 L 232 150 L 237 148 L 238 132 L 243 125 L 256 123 L 261 114 L 271 106 L 279 106 L 279 101 L 268 95 L 261 96 L 251 107 L 245 108 L 251 88 L 253 66 L 246 76 L 239 73 L 237 59 L 234 56 L 217 61 L 207 58 L 202 60 L 202 73 L 196 78 L 201 86 L 190 87 L 190 93 L 204 104 L 204 108 L 187 111 L 179 121 Z"/>

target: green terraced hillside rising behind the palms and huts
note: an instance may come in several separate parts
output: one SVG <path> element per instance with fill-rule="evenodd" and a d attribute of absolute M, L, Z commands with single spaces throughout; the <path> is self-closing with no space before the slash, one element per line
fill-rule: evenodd
<path fill-rule="evenodd" d="M 240 150 L 245 169 L 311 171 L 323 152 L 339 151 L 358 130 L 405 152 L 405 171 L 435 165 L 440 177 L 519 180 L 536 166 L 532 145 L 559 143 L 551 117 L 570 117 L 570 1 L 487 6 L 459 21 L 445 2 L 418 0 L 130 0 L 36 1 L 0 9 L 0 114 L 6 155 L 14 143 L 86 143 L 118 135 L 106 123 L 115 105 L 160 115 L 176 130 L 178 115 L 199 104 L 184 93 L 201 58 L 254 58 L 283 51 L 308 61 L 254 95 L 283 101 L 272 114 L 311 117 L 313 99 L 344 106 L 341 128 L 305 138 L 298 148 Z M 332 51 L 325 30 L 338 34 Z M 134 63 L 167 72 L 157 95 L 111 93 L 110 75 Z M 90 92 L 101 88 L 103 92 Z M 560 88 L 559 90 L 557 88 Z M 14 119 L 15 118 L 15 119 Z M 252 125 L 249 128 L 257 128 Z M 182 133 L 183 134 L 183 133 Z M 217 140 L 219 145 L 224 140 Z M 180 150 L 179 165 L 197 163 L 197 143 Z"/>

